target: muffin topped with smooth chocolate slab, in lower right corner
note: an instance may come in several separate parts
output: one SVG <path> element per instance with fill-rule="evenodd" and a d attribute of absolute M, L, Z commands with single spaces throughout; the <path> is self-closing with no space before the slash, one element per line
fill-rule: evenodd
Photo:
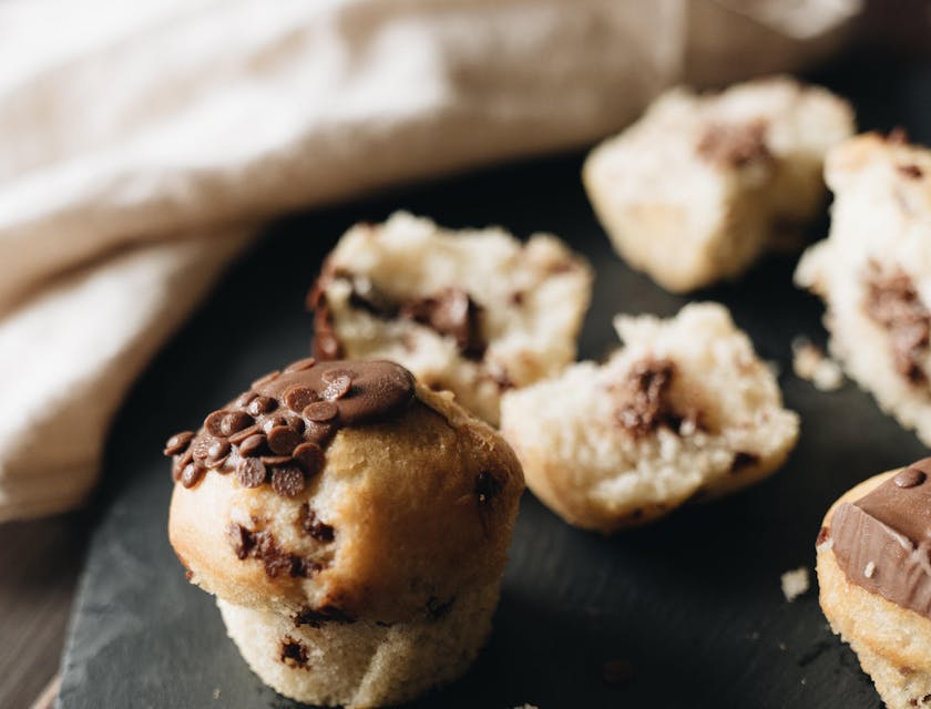
<path fill-rule="evenodd" d="M 889 709 L 931 706 L 931 459 L 845 493 L 818 534 L 818 585 Z"/>

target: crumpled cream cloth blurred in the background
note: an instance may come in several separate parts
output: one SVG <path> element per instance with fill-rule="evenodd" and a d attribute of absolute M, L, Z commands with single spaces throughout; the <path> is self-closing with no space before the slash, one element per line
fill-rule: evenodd
<path fill-rule="evenodd" d="M 127 388 L 263 220 L 583 146 L 673 84 L 823 59 L 862 11 L 0 1 L 0 520 L 88 495 Z"/>

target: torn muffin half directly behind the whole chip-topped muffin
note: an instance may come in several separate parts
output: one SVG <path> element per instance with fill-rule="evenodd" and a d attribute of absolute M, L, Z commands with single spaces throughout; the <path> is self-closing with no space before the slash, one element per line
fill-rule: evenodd
<path fill-rule="evenodd" d="M 340 239 L 309 297 L 318 359 L 383 358 L 485 421 L 501 393 L 575 359 L 587 264 L 553 236 L 451 232 L 395 214 Z"/>

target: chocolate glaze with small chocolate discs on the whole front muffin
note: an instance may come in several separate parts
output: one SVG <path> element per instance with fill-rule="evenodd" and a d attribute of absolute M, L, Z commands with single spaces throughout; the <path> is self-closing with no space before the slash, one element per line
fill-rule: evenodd
<path fill-rule="evenodd" d="M 229 405 L 214 411 L 195 435 L 165 444 L 173 476 L 193 487 L 208 469 L 235 473 L 244 487 L 270 484 L 296 497 L 324 467 L 325 449 L 344 427 L 365 425 L 403 411 L 413 377 L 393 362 L 294 362 L 272 372 Z"/>

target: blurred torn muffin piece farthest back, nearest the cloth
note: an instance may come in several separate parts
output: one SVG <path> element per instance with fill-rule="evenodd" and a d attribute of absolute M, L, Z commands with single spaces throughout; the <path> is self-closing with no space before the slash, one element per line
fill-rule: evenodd
<path fill-rule="evenodd" d="M 597 146 L 583 179 L 617 253 L 687 291 L 739 276 L 817 217 L 825 152 L 853 130 L 845 101 L 788 78 L 676 89 Z"/>

